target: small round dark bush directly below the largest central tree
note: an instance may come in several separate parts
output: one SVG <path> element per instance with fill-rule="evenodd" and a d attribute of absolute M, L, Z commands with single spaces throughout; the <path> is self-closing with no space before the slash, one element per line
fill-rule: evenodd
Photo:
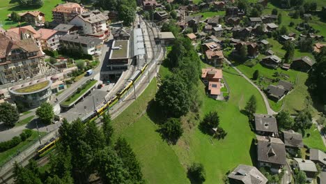
<path fill-rule="evenodd" d="M 176 142 L 183 135 L 183 128 L 178 118 L 169 118 L 162 126 L 161 132 L 167 139 Z"/>

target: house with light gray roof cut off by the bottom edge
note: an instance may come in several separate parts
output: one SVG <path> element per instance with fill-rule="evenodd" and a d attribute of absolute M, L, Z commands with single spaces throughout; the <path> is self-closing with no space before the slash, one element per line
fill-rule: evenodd
<path fill-rule="evenodd" d="M 228 174 L 230 183 L 242 184 L 265 184 L 267 178 L 261 174 L 256 167 L 239 164 L 230 174 Z"/>

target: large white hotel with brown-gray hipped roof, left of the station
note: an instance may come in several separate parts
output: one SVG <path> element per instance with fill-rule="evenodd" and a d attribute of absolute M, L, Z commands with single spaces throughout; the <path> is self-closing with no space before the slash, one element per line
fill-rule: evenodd
<path fill-rule="evenodd" d="M 100 10 L 93 10 L 74 17 L 70 24 L 79 26 L 81 33 L 87 36 L 95 36 L 100 39 L 107 38 L 107 16 Z"/>

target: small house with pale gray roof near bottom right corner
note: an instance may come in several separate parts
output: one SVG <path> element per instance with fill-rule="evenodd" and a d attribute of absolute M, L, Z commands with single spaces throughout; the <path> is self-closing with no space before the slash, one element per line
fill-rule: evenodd
<path fill-rule="evenodd" d="M 304 171 L 306 174 L 306 181 L 311 183 L 315 178 L 317 171 L 316 164 L 311 160 L 304 160 L 302 158 L 293 158 L 293 165 L 295 169 Z"/>

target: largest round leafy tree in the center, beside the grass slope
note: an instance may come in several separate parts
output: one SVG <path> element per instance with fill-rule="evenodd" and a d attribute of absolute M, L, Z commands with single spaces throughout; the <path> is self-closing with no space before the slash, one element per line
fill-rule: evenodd
<path fill-rule="evenodd" d="M 178 118 L 190 108 L 190 95 L 183 79 L 178 76 L 166 77 L 155 95 L 155 100 L 168 117 Z"/>

